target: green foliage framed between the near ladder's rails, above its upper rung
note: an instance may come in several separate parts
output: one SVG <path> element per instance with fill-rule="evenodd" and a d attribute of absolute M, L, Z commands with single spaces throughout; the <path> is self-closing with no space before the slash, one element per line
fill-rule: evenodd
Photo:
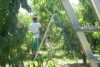
<path fill-rule="evenodd" d="M 83 26 L 96 26 L 97 19 L 88 0 L 80 1 L 79 10 L 81 11 L 80 22 Z"/>

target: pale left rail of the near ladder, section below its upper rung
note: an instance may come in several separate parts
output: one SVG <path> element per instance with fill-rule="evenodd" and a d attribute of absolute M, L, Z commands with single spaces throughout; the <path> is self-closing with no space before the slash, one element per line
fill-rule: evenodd
<path fill-rule="evenodd" d="M 89 63 L 91 67 L 98 67 L 97 60 L 91 60 L 91 57 L 94 57 L 90 48 L 90 44 L 87 41 L 87 38 L 85 37 L 85 34 L 83 32 L 77 32 L 77 35 L 79 37 L 80 42 L 82 43 L 83 50 L 85 51 L 85 54 L 87 55 L 87 59 L 89 60 Z"/>

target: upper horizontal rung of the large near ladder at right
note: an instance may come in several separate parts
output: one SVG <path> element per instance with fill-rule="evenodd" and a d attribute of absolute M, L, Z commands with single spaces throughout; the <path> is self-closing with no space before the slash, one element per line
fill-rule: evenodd
<path fill-rule="evenodd" d="M 100 27 L 98 28 L 93 28 L 93 27 L 89 27 L 89 28 L 85 28 L 85 27 L 81 27 L 81 28 L 76 28 L 76 31 L 81 31 L 81 32 L 100 32 Z"/>

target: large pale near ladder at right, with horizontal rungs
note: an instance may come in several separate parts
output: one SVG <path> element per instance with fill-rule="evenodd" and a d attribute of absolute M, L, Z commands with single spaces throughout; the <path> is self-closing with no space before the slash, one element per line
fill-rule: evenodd
<path fill-rule="evenodd" d="M 93 7 L 94 7 L 94 9 L 96 9 L 96 14 L 99 12 L 99 14 L 97 14 L 98 15 L 97 17 L 98 17 L 98 19 L 100 19 L 100 8 L 99 8 L 99 6 L 96 5 L 97 3 L 95 1 L 97 1 L 97 0 L 91 0 L 91 3 L 95 4 L 95 7 L 94 6 Z M 100 0 L 98 0 L 98 1 L 100 1 Z M 87 57 L 87 59 L 88 59 L 88 61 L 90 63 L 90 66 L 91 67 L 98 67 L 97 63 L 100 62 L 100 58 L 97 58 L 97 57 L 95 57 L 93 55 L 93 53 L 91 51 L 91 48 L 90 48 L 90 44 L 88 43 L 88 40 L 87 40 L 84 32 L 95 32 L 95 31 L 96 32 L 100 32 L 100 27 L 99 28 L 81 27 L 79 25 L 78 19 L 77 19 L 76 15 L 75 15 L 75 12 L 74 12 L 69 0 L 61 0 L 61 2 L 62 2 L 62 5 L 63 5 L 63 7 L 64 7 L 69 19 L 70 19 L 70 21 L 72 22 L 74 30 L 75 30 L 75 32 L 76 32 L 76 34 L 77 34 L 77 36 L 78 36 L 78 38 L 79 38 L 79 40 L 80 40 L 80 42 L 82 44 L 82 48 L 83 48 L 83 50 L 85 52 L 85 55 L 86 55 L 86 57 Z"/>

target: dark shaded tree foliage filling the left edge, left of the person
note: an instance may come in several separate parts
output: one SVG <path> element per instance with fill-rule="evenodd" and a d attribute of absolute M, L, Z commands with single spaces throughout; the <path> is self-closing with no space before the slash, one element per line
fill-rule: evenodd
<path fill-rule="evenodd" d="M 27 0 L 0 0 L 0 65 L 7 63 L 19 67 L 25 58 L 22 49 L 26 37 L 27 27 L 18 26 L 18 12 L 20 5 L 30 11 Z"/>

